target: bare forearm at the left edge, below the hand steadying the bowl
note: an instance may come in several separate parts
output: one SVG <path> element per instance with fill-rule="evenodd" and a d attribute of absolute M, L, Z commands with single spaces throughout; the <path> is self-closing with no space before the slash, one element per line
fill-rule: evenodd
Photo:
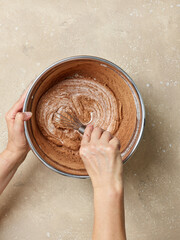
<path fill-rule="evenodd" d="M 13 153 L 7 149 L 0 153 L 0 194 L 14 176 L 25 156 L 26 153 Z"/>

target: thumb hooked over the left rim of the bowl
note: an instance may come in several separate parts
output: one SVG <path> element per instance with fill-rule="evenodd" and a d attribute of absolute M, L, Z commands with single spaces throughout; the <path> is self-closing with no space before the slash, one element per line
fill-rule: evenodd
<path fill-rule="evenodd" d="M 19 134 L 24 132 L 24 121 L 27 121 L 31 118 L 31 112 L 18 112 L 14 121 L 14 131 Z"/>

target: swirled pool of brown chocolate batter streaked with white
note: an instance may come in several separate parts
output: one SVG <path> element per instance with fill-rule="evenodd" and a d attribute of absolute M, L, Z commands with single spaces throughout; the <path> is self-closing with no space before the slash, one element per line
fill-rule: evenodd
<path fill-rule="evenodd" d="M 115 134 L 121 116 L 113 92 L 92 79 L 70 78 L 50 88 L 40 99 L 36 119 L 41 133 L 49 142 L 78 151 L 81 134 L 64 127 L 56 113 L 75 114 L 83 124 L 94 126 Z"/>

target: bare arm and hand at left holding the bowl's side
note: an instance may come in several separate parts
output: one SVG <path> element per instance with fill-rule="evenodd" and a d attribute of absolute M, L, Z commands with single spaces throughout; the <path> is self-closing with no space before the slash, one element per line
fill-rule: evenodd
<path fill-rule="evenodd" d="M 0 194 L 30 150 L 24 134 L 24 121 L 29 120 L 32 114 L 22 113 L 26 93 L 27 91 L 6 114 L 8 144 L 0 153 Z"/>

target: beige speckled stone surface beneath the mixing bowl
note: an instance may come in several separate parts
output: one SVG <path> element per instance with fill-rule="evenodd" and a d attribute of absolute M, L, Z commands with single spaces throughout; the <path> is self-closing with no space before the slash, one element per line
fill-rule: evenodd
<path fill-rule="evenodd" d="M 5 112 L 29 82 L 64 57 L 122 67 L 146 106 L 146 129 L 124 166 L 127 237 L 180 236 L 180 4 L 163 0 L 0 1 L 0 150 Z M 89 240 L 90 180 L 63 177 L 32 153 L 0 198 L 0 240 Z"/>

